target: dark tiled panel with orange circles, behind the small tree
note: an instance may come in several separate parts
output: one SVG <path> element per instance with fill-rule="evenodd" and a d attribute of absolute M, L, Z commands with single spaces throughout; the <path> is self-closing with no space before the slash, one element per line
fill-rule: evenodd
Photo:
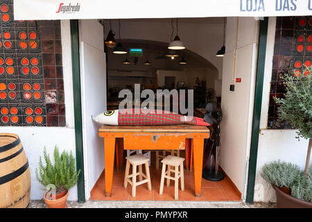
<path fill-rule="evenodd" d="M 268 128 L 291 128 L 289 123 L 278 119 L 274 96 L 283 98 L 286 92 L 282 75 L 306 75 L 304 65 L 309 67 L 311 61 L 312 17 L 277 17 Z"/>

